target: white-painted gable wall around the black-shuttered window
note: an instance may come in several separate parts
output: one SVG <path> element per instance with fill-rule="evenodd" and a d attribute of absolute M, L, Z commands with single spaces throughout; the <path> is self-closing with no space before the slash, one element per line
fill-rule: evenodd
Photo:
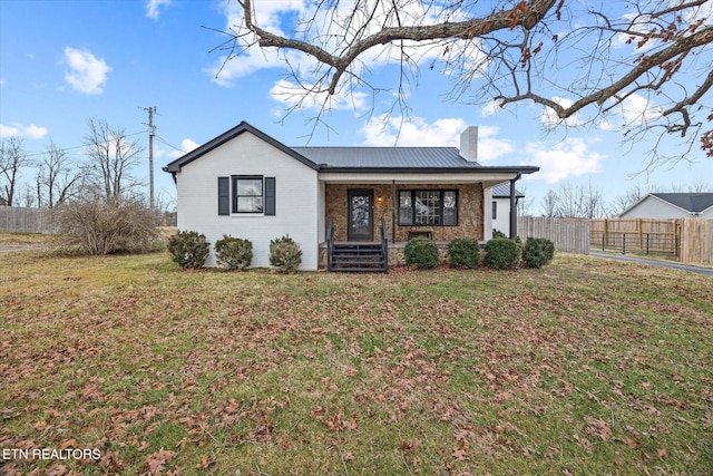
<path fill-rule="evenodd" d="M 275 177 L 275 216 L 218 216 L 218 177 Z M 253 242 L 253 266 L 270 266 L 270 241 L 289 234 L 302 249 L 302 270 L 318 268 L 316 172 L 250 133 L 184 165 L 177 174 L 178 229 L 197 231 L 211 244 L 229 234 Z M 232 186 L 232 184 L 231 184 Z M 215 266 L 211 246 L 207 266 Z"/>

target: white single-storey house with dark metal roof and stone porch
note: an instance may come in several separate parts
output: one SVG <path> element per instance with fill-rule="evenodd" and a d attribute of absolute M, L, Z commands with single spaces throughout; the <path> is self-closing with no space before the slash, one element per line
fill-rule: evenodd
<path fill-rule="evenodd" d="M 290 235 L 302 270 L 388 270 L 416 236 L 445 244 L 492 235 L 491 188 L 535 166 L 482 166 L 478 129 L 457 147 L 289 147 L 243 122 L 169 163 L 178 229 L 211 243 L 253 243 L 253 266 L 270 266 L 271 240 Z M 515 235 L 516 207 L 511 207 Z M 207 266 L 216 265 L 213 251 Z"/>

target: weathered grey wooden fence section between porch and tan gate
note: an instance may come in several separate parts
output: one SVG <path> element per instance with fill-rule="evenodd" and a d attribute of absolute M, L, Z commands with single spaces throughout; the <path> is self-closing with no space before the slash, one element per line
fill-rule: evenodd
<path fill-rule="evenodd" d="M 517 234 L 522 241 L 528 237 L 551 240 L 557 251 L 589 254 L 588 220 L 519 216 Z"/>

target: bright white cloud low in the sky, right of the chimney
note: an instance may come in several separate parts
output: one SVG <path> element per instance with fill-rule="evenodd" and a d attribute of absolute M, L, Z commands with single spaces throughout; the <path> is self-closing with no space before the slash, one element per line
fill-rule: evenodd
<path fill-rule="evenodd" d="M 569 137 L 554 146 L 530 143 L 526 147 L 527 161 L 521 165 L 534 164 L 540 167 L 535 179 L 544 179 L 549 184 L 602 171 L 602 162 L 606 155 L 589 150 L 582 138 Z"/>

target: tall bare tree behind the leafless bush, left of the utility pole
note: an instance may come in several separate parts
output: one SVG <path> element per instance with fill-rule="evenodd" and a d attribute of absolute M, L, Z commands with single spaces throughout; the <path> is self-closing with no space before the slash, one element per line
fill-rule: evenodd
<path fill-rule="evenodd" d="M 104 119 L 88 120 L 89 134 L 85 137 L 88 173 L 107 203 L 118 204 L 140 183 L 131 175 L 144 150 L 138 140 L 130 140 L 125 130 L 110 127 Z"/>

